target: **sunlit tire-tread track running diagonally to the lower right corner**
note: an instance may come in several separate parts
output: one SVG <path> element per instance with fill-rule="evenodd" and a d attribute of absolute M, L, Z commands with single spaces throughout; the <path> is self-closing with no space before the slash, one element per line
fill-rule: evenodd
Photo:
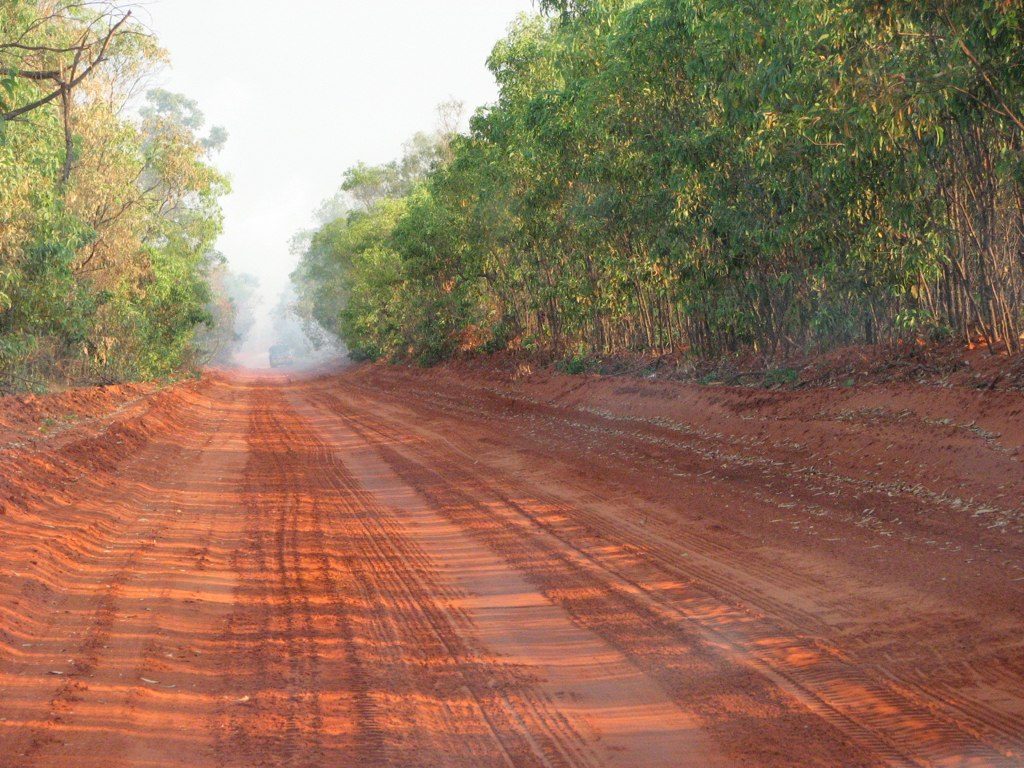
<path fill-rule="evenodd" d="M 548 565 L 542 569 L 537 567 L 536 562 L 531 570 L 538 583 L 552 595 L 558 594 L 560 589 L 564 590 L 564 587 L 560 588 L 558 585 L 571 583 L 566 580 L 573 573 L 578 579 L 582 579 L 581 571 L 593 569 L 595 572 L 588 575 L 599 584 L 604 582 L 600 589 L 617 593 L 615 598 L 620 601 L 620 610 L 642 615 L 649 608 L 653 608 L 646 620 L 648 626 L 662 624 L 662 631 L 671 633 L 674 625 L 692 626 L 696 618 L 707 635 L 729 648 L 735 660 L 742 664 L 746 655 L 748 664 L 753 662 L 759 672 L 779 683 L 780 687 L 795 695 L 855 743 L 866 746 L 865 754 L 873 754 L 887 764 L 979 766 L 1014 764 L 1012 761 L 1016 759 L 993 751 L 983 741 L 979 741 L 977 731 L 965 728 L 964 721 L 951 721 L 948 716 L 940 717 L 934 711 L 922 706 L 918 697 L 900 695 L 884 683 L 865 677 L 861 671 L 845 664 L 838 653 L 830 653 L 827 648 L 820 648 L 797 638 L 786 639 L 785 634 L 778 628 L 765 625 L 763 617 L 758 618 L 737 610 L 734 604 L 724 604 L 713 595 L 701 595 L 698 592 L 696 597 L 687 596 L 684 603 L 686 609 L 679 610 L 665 600 L 658 600 L 647 594 L 637 582 L 617 572 L 614 566 L 595 562 L 586 551 L 577 546 L 575 540 L 579 538 L 580 528 L 571 531 L 569 536 L 559 535 L 554 526 L 546 525 L 538 519 L 547 517 L 556 520 L 578 520 L 583 517 L 587 529 L 595 530 L 608 528 L 606 518 L 586 519 L 584 510 L 568 508 L 557 499 L 538 495 L 536 488 L 520 492 L 520 498 L 529 499 L 530 507 L 544 510 L 542 515 L 531 513 L 495 484 L 481 481 L 479 472 L 471 474 L 466 471 L 465 462 L 452 461 L 443 457 L 436 443 L 426 445 L 421 442 L 410 449 L 407 447 L 410 440 L 408 438 L 402 440 L 401 433 L 393 428 L 382 428 L 380 419 L 375 419 L 373 426 L 368 426 L 367 415 L 371 413 L 379 415 L 380 409 L 364 406 L 356 413 L 341 407 L 337 398 L 329 399 L 333 399 L 332 406 L 336 411 L 350 421 L 361 424 L 365 431 L 376 430 L 378 441 L 382 443 L 382 453 L 409 482 L 416 485 L 421 493 L 428 495 L 439 508 L 450 510 L 450 514 L 458 514 L 463 524 L 482 532 L 484 539 L 489 541 L 496 550 L 506 553 L 510 557 L 510 562 L 516 567 L 529 569 L 534 562 L 529 558 L 515 554 L 519 549 L 526 549 L 523 541 L 534 532 L 530 530 L 531 527 L 543 530 L 545 537 L 555 537 L 557 544 L 549 544 L 544 557 L 536 558 L 536 562 L 543 561 L 550 564 L 560 561 L 564 568 L 563 572 L 559 578 L 553 578 Z M 418 456 L 418 460 L 411 462 L 389 447 L 399 443 L 403 443 L 403 453 L 413 452 Z M 451 455 L 451 452 L 449 453 Z M 509 523 L 501 519 L 501 515 L 495 513 L 494 504 L 481 501 L 488 499 L 528 523 L 524 524 L 522 521 Z M 475 514 L 467 512 L 474 508 Z M 701 586 L 709 582 L 707 572 L 694 573 L 692 570 L 670 565 L 665 556 L 652 553 L 649 545 L 636 537 L 628 536 L 622 526 L 618 529 L 612 526 L 608 532 L 609 536 L 604 542 L 605 549 L 609 542 L 617 545 L 625 541 L 640 552 L 644 560 L 653 561 L 657 565 L 663 580 L 666 577 L 677 580 L 682 577 L 686 581 L 697 581 Z M 601 551 L 597 546 L 601 542 L 595 542 L 594 551 Z M 564 553 L 570 550 L 575 550 L 578 555 L 574 562 L 564 556 Z M 602 570 L 605 572 L 603 579 Z M 611 584 L 607 583 L 609 574 Z M 585 590 L 585 581 L 581 581 L 575 589 Z M 739 584 L 720 582 L 715 585 L 712 582 L 712 585 L 731 594 L 733 598 L 743 594 L 742 585 Z M 570 605 L 573 602 L 571 598 L 563 599 Z M 651 602 L 653 605 L 643 605 Z M 781 610 L 779 615 L 785 616 L 785 606 L 772 607 L 776 611 Z M 595 627 L 602 627 L 605 632 L 614 627 L 614 624 L 599 621 L 597 616 L 602 613 L 613 615 L 615 612 L 615 610 L 599 611 L 594 605 L 583 602 L 573 610 L 573 614 L 588 626 L 593 623 Z M 799 621 L 800 617 L 796 618 Z M 758 627 L 758 623 L 764 626 Z M 651 635 L 647 634 L 647 637 Z M 616 640 L 627 650 L 637 645 L 636 636 L 627 637 L 625 640 L 618 637 Z M 692 638 L 677 638 L 679 645 L 687 641 L 692 642 Z M 666 638 L 665 646 L 671 644 L 671 639 Z M 794 664 L 794 659 L 797 664 Z M 977 714 L 975 716 L 978 717 Z M 991 732 L 992 723 L 988 721 L 985 723 Z M 773 730 L 777 730 L 777 725 L 773 726 Z"/>

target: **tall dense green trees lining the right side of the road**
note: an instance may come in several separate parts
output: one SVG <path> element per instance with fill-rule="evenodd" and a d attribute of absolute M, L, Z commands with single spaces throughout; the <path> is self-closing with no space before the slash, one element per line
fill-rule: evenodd
<path fill-rule="evenodd" d="M 354 352 L 1020 350 L 1021 3 L 542 6 L 469 135 L 352 169 L 312 237 L 305 311 Z"/>

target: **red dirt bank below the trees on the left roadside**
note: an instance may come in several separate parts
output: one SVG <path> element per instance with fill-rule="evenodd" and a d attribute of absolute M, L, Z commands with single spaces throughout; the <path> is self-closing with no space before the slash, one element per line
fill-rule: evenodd
<path fill-rule="evenodd" d="M 124 463 L 155 436 L 173 434 L 208 387 L 124 385 L 0 398 L 2 655 L 18 653 L 23 629 L 47 621 L 75 568 L 124 523 L 126 510 L 101 502 Z"/>

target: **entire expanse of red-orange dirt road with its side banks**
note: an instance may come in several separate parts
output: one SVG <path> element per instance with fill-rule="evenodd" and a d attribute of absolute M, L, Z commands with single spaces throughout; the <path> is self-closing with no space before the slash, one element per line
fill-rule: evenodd
<path fill-rule="evenodd" d="M 0 400 L 3 768 L 1024 765 L 1019 392 L 78 396 Z"/>

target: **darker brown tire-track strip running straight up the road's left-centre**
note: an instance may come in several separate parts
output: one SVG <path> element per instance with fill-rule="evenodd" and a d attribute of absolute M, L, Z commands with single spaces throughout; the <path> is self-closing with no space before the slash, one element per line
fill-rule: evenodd
<path fill-rule="evenodd" d="M 224 694 L 216 732 L 227 735 L 217 739 L 217 762 L 319 766 L 348 755 L 340 742 L 326 745 L 323 700 L 325 689 L 333 689 L 331 718 L 350 714 L 340 692 L 351 670 L 325 670 L 337 645 L 332 635 L 347 617 L 337 601 L 313 605 L 315 579 L 324 575 L 315 567 L 324 557 L 319 523 L 303 501 L 301 473 L 265 396 L 252 406 L 247 442 L 245 538 L 232 559 L 240 586 L 222 636 L 225 660 L 236 665 L 233 693 Z"/>

